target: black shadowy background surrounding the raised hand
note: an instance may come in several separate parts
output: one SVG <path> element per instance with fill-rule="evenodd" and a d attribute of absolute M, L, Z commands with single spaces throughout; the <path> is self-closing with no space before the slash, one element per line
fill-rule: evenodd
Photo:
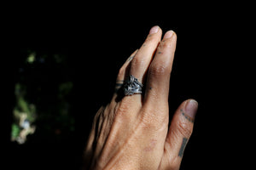
<path fill-rule="evenodd" d="M 250 14 L 241 15 L 237 13 L 241 8 L 230 10 L 223 5 L 175 5 L 36 5 L 15 14 L 5 13 L 6 51 L 11 63 L 6 139 L 13 121 L 15 83 L 20 77 L 25 77 L 21 82 L 28 88 L 26 99 L 38 102 L 38 112 L 41 108 L 41 112 L 51 114 L 49 119 L 38 121 L 36 133 L 28 137 L 26 144 L 8 142 L 10 147 L 4 155 L 8 169 L 79 169 L 93 116 L 113 94 L 119 67 L 155 25 L 163 32 L 172 29 L 177 33 L 170 114 L 185 99 L 199 102 L 195 130 L 181 169 L 228 168 L 234 162 L 239 165 L 238 153 L 244 150 L 240 141 L 246 139 L 241 130 L 245 102 L 241 95 L 247 94 L 247 89 L 238 84 L 250 84 L 244 48 L 247 28 L 252 24 L 247 20 Z M 44 57 L 44 64 L 36 60 L 34 65 L 27 65 L 30 52 Z M 53 108 L 60 102 L 56 99 L 60 82 L 73 82 L 72 91 L 65 97 L 69 116 L 74 120 L 73 130 L 68 122 L 55 122 Z M 38 86 L 42 88 L 39 94 Z M 56 129 L 61 133 L 55 133 Z"/>

